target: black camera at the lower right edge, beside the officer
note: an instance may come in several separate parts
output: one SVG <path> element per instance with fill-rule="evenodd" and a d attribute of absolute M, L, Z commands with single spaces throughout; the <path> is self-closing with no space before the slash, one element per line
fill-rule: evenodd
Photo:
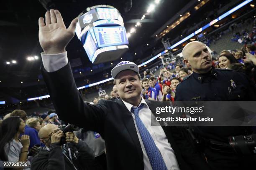
<path fill-rule="evenodd" d="M 256 154 L 256 134 L 230 136 L 228 142 L 237 154 Z"/>

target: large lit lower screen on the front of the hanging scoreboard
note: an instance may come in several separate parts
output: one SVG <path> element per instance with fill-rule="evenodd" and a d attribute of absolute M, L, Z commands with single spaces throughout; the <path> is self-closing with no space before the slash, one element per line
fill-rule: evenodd
<path fill-rule="evenodd" d="M 93 28 L 98 47 L 129 44 L 125 28 L 116 27 L 95 27 Z"/>

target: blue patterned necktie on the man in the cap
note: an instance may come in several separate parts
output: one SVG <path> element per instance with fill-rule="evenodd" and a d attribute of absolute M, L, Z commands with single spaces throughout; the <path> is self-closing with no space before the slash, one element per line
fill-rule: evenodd
<path fill-rule="evenodd" d="M 166 165 L 164 163 L 164 159 L 156 147 L 156 144 L 148 132 L 147 128 L 141 121 L 141 118 L 138 115 L 138 112 L 143 108 L 143 103 L 139 107 L 133 106 L 131 108 L 131 112 L 135 115 L 135 121 L 138 127 L 138 130 L 141 134 L 141 139 L 143 141 L 146 153 L 148 155 L 149 162 L 153 170 L 167 170 Z"/>

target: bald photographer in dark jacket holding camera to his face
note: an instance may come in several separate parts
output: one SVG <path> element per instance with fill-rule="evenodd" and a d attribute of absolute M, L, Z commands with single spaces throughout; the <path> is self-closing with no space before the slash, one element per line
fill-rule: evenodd
<path fill-rule="evenodd" d="M 87 163 L 94 160 L 93 150 L 74 133 L 62 130 L 54 124 L 41 128 L 38 136 L 46 146 L 33 158 L 31 170 L 88 169 Z"/>

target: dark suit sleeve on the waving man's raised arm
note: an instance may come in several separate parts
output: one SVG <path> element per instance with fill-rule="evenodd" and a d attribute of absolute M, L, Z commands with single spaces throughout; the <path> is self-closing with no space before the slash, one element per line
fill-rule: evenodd
<path fill-rule="evenodd" d="M 70 64 L 55 72 L 46 72 L 41 66 L 41 71 L 59 118 L 80 128 L 103 133 L 106 106 L 104 102 L 101 105 L 84 103 Z"/>

